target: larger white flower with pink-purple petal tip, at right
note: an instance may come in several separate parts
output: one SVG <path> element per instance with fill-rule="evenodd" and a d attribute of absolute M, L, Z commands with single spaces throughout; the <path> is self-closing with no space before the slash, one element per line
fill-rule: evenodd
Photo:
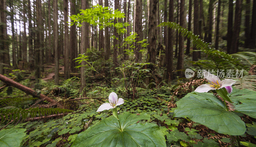
<path fill-rule="evenodd" d="M 206 70 L 203 71 L 203 75 L 204 78 L 207 79 L 208 83 L 198 86 L 195 92 L 208 92 L 210 90 L 216 90 L 225 87 L 228 93 L 231 93 L 232 85 L 236 83 L 236 81 L 232 79 L 224 79 L 221 81 L 219 77 L 212 75 L 210 72 Z"/>

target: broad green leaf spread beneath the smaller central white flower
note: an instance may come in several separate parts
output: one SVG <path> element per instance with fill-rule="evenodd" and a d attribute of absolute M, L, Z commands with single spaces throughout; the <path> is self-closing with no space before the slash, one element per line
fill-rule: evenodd
<path fill-rule="evenodd" d="M 79 133 L 72 147 L 97 147 L 97 146 L 163 146 L 166 147 L 165 137 L 158 125 L 140 120 L 149 120 L 150 115 L 140 115 L 124 112 L 118 115 L 118 120 L 112 115 L 99 123 Z"/>

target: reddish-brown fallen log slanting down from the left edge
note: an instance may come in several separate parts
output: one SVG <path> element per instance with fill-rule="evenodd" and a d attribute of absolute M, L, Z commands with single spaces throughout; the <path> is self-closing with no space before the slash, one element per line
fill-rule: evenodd
<path fill-rule="evenodd" d="M 3 75 L 0 74 L 0 80 L 3 81 L 4 83 L 6 83 L 7 85 L 10 85 L 10 86 L 13 86 L 15 88 L 18 88 L 20 89 L 21 91 L 29 94 L 29 95 L 32 95 L 36 98 L 40 98 L 40 99 L 44 99 L 50 103 L 54 103 L 56 102 L 54 99 L 51 99 L 47 96 L 45 96 L 44 94 L 38 94 L 36 93 L 36 91 L 34 91 L 33 89 L 27 87 L 27 86 L 24 86 L 24 85 L 21 85 L 20 83 L 16 82 L 16 81 L 13 81 L 12 79 L 8 78 L 8 77 L 5 77 Z"/>

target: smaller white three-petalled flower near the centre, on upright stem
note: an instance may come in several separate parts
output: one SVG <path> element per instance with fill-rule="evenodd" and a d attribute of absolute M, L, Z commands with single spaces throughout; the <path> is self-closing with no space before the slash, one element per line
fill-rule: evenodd
<path fill-rule="evenodd" d="M 117 97 L 117 94 L 115 92 L 111 92 L 108 96 L 108 101 L 109 103 L 104 103 L 102 104 L 97 112 L 103 111 L 103 110 L 109 110 L 109 109 L 113 109 L 116 106 L 122 105 L 124 104 L 124 99 Z"/>

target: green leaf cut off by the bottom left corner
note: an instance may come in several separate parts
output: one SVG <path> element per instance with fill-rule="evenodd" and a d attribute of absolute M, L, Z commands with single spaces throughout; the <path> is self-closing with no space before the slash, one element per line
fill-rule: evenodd
<path fill-rule="evenodd" d="M 3 129 L 0 131 L 1 147 L 19 147 L 26 129 Z"/>

